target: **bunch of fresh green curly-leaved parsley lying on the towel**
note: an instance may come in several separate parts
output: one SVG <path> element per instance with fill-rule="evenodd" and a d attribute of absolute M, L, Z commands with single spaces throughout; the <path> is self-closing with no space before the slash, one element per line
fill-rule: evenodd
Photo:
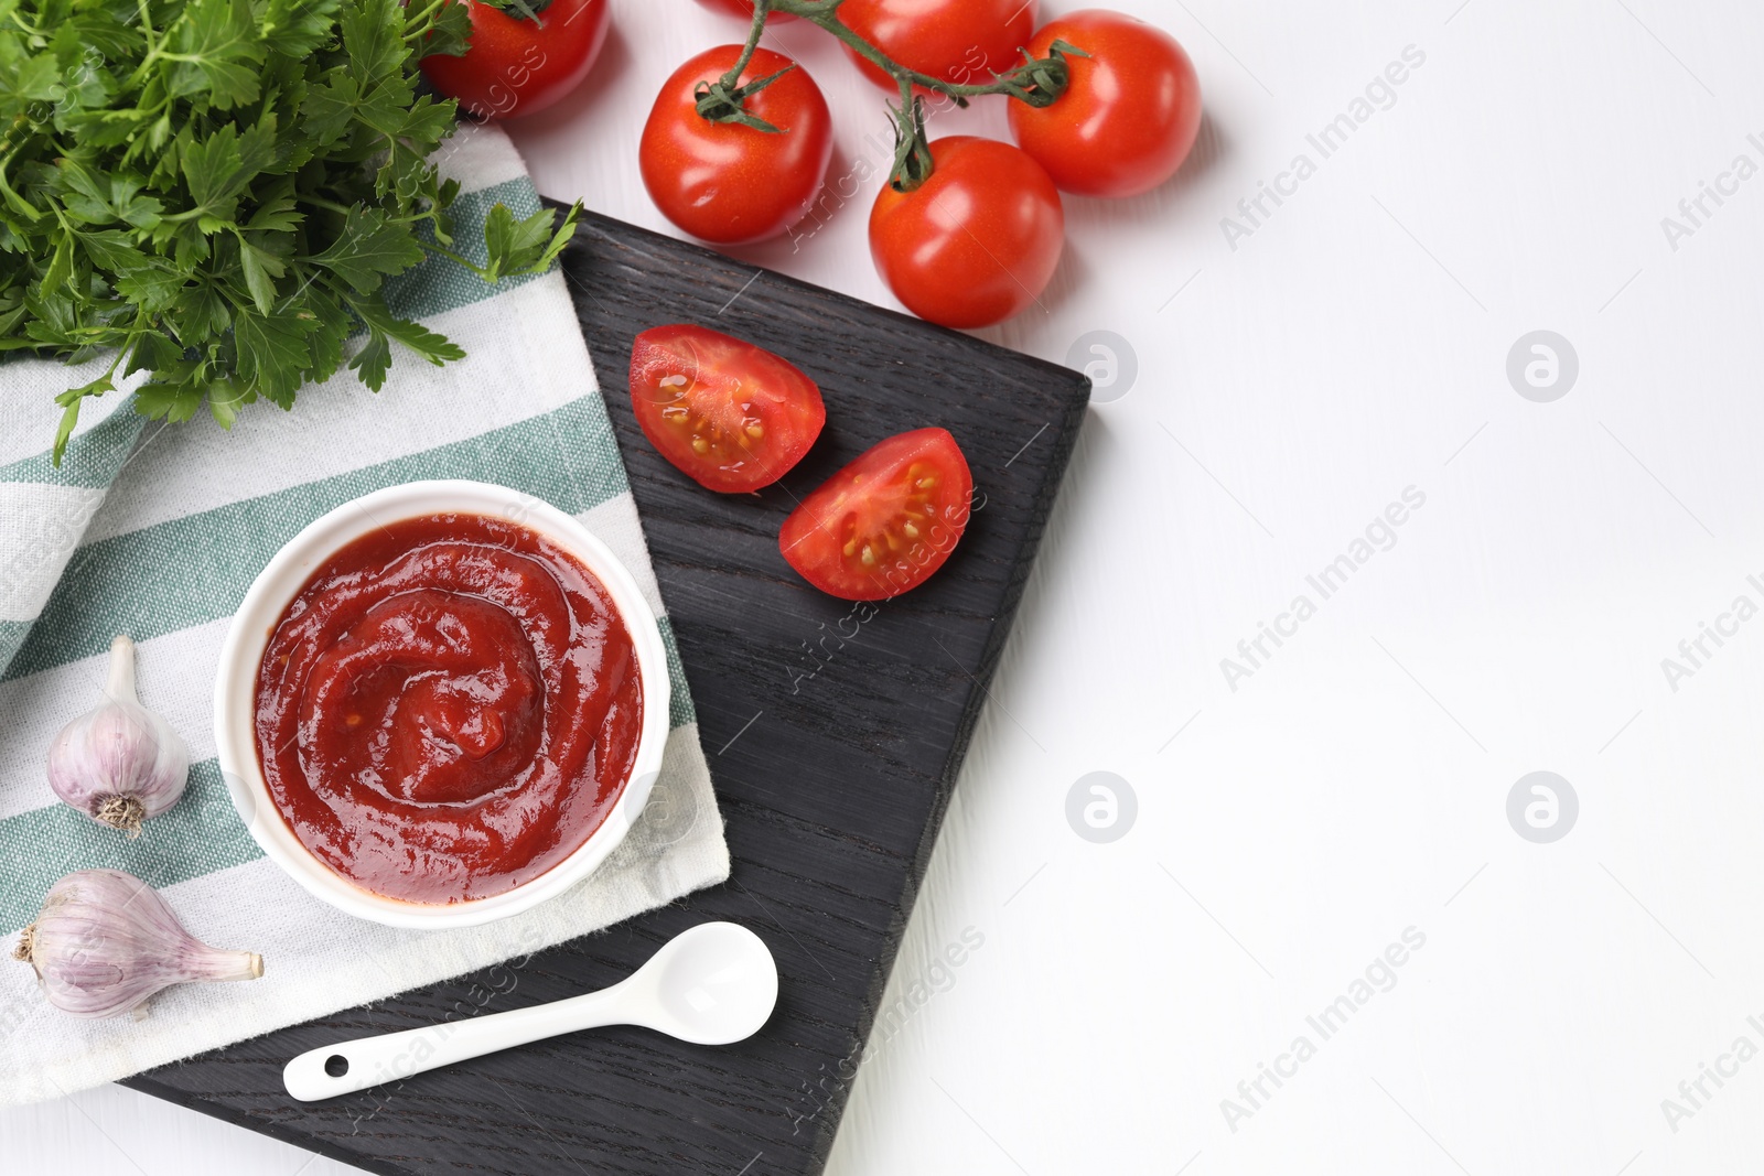
<path fill-rule="evenodd" d="M 386 309 L 427 254 L 485 280 L 542 272 L 575 231 L 497 205 L 489 259 L 450 247 L 430 153 L 455 104 L 416 60 L 464 53 L 453 0 L 0 0 L 0 351 L 109 370 L 56 397 L 60 462 L 86 397 L 150 372 L 136 407 L 231 425 L 348 365 L 377 390 L 392 340 L 464 353 Z"/>

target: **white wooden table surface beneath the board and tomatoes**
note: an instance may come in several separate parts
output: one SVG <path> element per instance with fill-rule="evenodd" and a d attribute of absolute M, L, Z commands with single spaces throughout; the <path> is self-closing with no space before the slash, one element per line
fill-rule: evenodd
<path fill-rule="evenodd" d="M 1208 123 L 1164 189 L 1071 199 L 1046 314 L 991 331 L 1101 363 L 1099 404 L 829 1171 L 1755 1169 L 1764 9 L 1118 7 L 1189 48 Z M 543 192 L 667 231 L 644 115 L 739 26 L 616 25 L 513 130 Z M 880 164 L 880 92 L 776 37 L 836 175 Z M 975 129 L 1002 108 L 935 132 Z M 875 183 L 741 256 L 887 303 Z M 1113 829 L 1088 781 L 1067 818 L 1092 772 Z M 348 1171 L 120 1088 L 0 1139 Z"/>

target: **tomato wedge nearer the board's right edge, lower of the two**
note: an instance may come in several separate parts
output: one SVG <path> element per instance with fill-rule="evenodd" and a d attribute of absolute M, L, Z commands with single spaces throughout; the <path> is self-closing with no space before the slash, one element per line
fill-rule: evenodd
<path fill-rule="evenodd" d="M 840 599 L 924 584 L 968 525 L 974 474 L 946 428 L 889 437 L 803 499 L 778 532 L 797 573 Z"/>

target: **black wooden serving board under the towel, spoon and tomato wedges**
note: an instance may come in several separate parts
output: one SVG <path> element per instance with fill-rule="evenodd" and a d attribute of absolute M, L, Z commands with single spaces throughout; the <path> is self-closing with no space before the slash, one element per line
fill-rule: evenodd
<path fill-rule="evenodd" d="M 818 1172 L 1088 381 L 605 217 L 586 219 L 564 270 L 679 636 L 732 880 L 517 970 L 406 993 L 129 1084 L 376 1172 Z M 820 383 L 826 432 L 781 485 L 709 494 L 637 430 L 632 339 L 679 321 L 771 347 Z M 930 584 L 859 622 L 790 571 L 778 525 L 847 460 L 921 425 L 956 435 L 984 504 Z M 711 919 L 751 927 L 778 959 L 778 1012 L 739 1046 L 596 1030 L 418 1076 L 390 1095 L 298 1104 L 282 1091 L 296 1053 L 603 987 Z"/>

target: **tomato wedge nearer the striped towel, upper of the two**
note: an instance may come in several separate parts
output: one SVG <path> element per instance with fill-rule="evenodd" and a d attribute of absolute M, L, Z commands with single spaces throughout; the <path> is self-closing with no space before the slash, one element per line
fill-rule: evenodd
<path fill-rule="evenodd" d="M 690 323 L 637 337 L 632 407 L 662 457 L 723 494 L 783 478 L 827 423 L 820 388 L 794 363 Z"/>

